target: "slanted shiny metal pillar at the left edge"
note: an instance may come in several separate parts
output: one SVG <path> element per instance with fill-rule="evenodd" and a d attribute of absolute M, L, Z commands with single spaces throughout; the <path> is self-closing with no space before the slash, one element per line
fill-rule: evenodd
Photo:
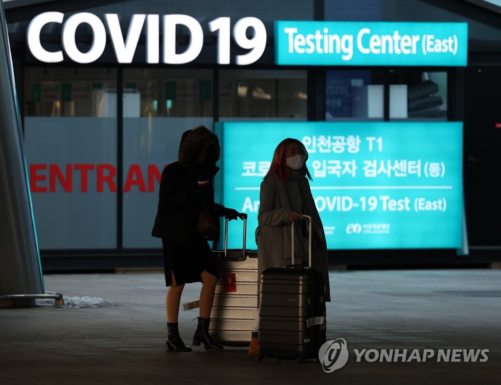
<path fill-rule="evenodd" d="M 0 306 L 30 306 L 44 281 L 3 1 L 0 19 Z"/>

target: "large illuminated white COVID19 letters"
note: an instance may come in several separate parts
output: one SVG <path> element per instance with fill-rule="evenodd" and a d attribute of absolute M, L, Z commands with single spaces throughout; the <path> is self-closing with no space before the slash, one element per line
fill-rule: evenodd
<path fill-rule="evenodd" d="M 119 63 L 130 63 L 136 52 L 139 37 L 146 21 L 146 62 L 160 62 L 160 15 L 134 14 L 124 41 L 122 29 L 117 13 L 105 14 L 111 44 Z M 56 63 L 64 60 L 63 50 L 49 51 L 42 45 L 40 32 L 49 23 L 63 24 L 62 48 L 70 59 L 78 63 L 91 63 L 99 59 L 106 48 L 105 23 L 95 14 L 89 12 L 75 13 L 64 21 L 62 12 L 44 12 L 35 16 L 27 31 L 28 47 L 37 59 L 47 63 Z M 80 24 L 88 24 L 92 30 L 93 42 L 91 47 L 82 52 L 75 41 L 75 33 Z M 176 52 L 176 26 L 184 25 L 190 36 L 190 42 L 184 52 Z M 230 38 L 249 52 L 236 55 L 237 65 L 252 64 L 262 55 L 266 47 L 267 32 L 263 22 L 256 17 L 243 17 L 236 21 L 230 32 L 230 18 L 218 17 L 208 22 L 210 32 L 217 32 L 217 63 L 229 64 Z M 254 29 L 254 35 L 247 37 L 247 28 Z M 193 17 L 185 14 L 163 15 L 163 62 L 167 64 L 184 64 L 193 61 L 200 54 L 203 47 L 203 30 L 200 23 Z"/>

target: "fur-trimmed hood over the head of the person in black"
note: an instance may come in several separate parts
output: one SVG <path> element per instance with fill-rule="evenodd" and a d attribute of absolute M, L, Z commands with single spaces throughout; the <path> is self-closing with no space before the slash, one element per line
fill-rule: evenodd
<path fill-rule="evenodd" d="M 204 163 L 215 164 L 221 155 L 217 135 L 200 125 L 183 135 L 177 160 L 184 165 L 197 164 L 200 153 L 207 151 Z"/>

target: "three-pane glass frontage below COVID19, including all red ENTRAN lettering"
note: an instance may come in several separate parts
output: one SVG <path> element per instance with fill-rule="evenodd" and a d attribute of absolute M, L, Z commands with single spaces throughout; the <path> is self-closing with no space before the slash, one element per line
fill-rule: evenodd
<path fill-rule="evenodd" d="M 25 78 L 40 248 L 161 247 L 151 236 L 161 172 L 182 132 L 213 130 L 213 70 L 123 69 L 120 120 L 116 69 L 30 67 Z M 221 70 L 219 79 L 220 120 L 307 119 L 307 71 Z"/>

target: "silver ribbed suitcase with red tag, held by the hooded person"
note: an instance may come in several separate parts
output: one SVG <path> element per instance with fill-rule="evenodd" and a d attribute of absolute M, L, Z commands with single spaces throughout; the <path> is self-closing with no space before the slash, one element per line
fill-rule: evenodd
<path fill-rule="evenodd" d="M 210 313 L 209 332 L 214 341 L 228 346 L 250 344 L 258 311 L 258 252 L 245 249 L 247 215 L 243 215 L 243 247 L 228 250 L 226 219 L 224 250 L 213 251 L 220 279 Z"/>

